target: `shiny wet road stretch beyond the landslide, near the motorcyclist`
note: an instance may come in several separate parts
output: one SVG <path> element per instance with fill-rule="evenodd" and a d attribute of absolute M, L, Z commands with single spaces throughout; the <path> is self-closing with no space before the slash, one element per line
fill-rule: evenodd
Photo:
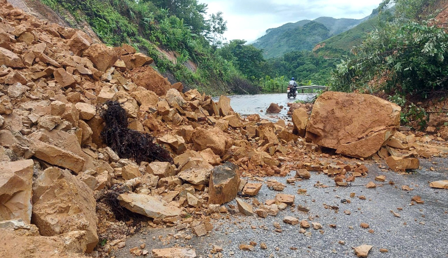
<path fill-rule="evenodd" d="M 307 101 L 312 99 L 316 94 L 306 93 L 297 94 L 296 99 L 290 98 L 286 93 L 281 94 L 258 94 L 258 95 L 233 95 L 230 98 L 230 105 L 233 110 L 240 115 L 258 114 L 261 118 L 269 120 L 287 119 L 287 112 L 289 110 L 288 103 L 296 100 Z M 219 97 L 213 98 L 213 101 L 218 102 Z M 280 114 L 266 114 L 266 109 L 271 103 L 277 103 L 283 106 Z M 286 108 L 286 109 L 285 109 Z M 263 110 L 261 112 L 261 110 Z"/>

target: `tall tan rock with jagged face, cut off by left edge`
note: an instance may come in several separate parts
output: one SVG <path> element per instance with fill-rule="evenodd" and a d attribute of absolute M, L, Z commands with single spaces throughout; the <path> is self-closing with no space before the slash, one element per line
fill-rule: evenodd
<path fill-rule="evenodd" d="M 32 159 L 0 162 L 0 221 L 31 222 Z"/>

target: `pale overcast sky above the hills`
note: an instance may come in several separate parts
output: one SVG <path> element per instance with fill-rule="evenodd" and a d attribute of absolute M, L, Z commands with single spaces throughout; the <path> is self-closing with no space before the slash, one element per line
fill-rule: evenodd
<path fill-rule="evenodd" d="M 266 29 L 313 20 L 321 16 L 361 19 L 370 15 L 381 0 L 198 0 L 208 4 L 208 13 L 222 11 L 227 21 L 227 40 L 249 42 Z"/>

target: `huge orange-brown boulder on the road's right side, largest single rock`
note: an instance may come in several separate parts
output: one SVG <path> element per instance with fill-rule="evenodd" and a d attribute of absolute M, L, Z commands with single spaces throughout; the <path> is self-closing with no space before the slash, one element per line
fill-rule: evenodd
<path fill-rule="evenodd" d="M 307 138 L 352 157 L 369 157 L 400 125 L 401 108 L 367 94 L 325 92 L 314 103 Z"/>

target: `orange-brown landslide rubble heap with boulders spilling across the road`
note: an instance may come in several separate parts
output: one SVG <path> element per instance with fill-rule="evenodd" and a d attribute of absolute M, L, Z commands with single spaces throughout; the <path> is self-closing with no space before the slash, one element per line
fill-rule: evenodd
<path fill-rule="evenodd" d="M 109 257 L 141 227 L 203 236 L 221 214 L 265 217 L 294 202 L 280 195 L 255 204 L 256 210 L 243 199 L 230 210 L 221 206 L 239 193 L 258 193 L 262 184 L 246 185 L 242 177 L 284 177 L 295 170 L 288 179 L 294 182 L 322 171 L 346 186 L 366 175 L 356 159 L 319 161 L 317 156 L 329 156 L 319 145 L 356 146 L 341 153 L 387 158 L 399 172 L 418 167 L 418 156 L 447 153 L 423 144 L 428 137 L 393 134 L 399 111 L 382 110 L 392 104 L 370 95 L 326 93 L 309 121 L 299 108 L 286 125 L 242 118 L 225 96 L 215 103 L 197 90 L 182 93 L 182 84 L 171 85 L 151 63 L 130 46 L 92 43 L 80 30 L 38 20 L 0 0 L 1 256 Z M 375 127 L 360 126 L 357 114 L 347 119 L 349 102 L 377 112 L 370 119 Z M 328 103 L 335 109 L 327 110 Z M 388 116 L 392 122 L 383 119 Z M 340 126 L 344 130 L 334 135 Z M 382 138 L 370 137 L 378 134 Z M 309 142 L 313 138 L 319 145 Z M 277 181 L 267 186 L 284 188 Z M 130 252 L 149 251 L 140 246 Z M 191 248 L 152 250 L 153 257 L 174 254 L 196 256 Z"/>

